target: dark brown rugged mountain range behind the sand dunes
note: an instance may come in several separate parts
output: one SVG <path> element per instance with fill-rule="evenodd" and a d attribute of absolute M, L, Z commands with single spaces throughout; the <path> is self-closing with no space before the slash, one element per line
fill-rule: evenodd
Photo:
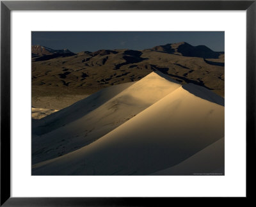
<path fill-rule="evenodd" d="M 32 96 L 92 94 L 160 71 L 224 96 L 224 53 L 204 45 L 173 43 L 145 50 L 78 52 L 32 46 Z"/>

